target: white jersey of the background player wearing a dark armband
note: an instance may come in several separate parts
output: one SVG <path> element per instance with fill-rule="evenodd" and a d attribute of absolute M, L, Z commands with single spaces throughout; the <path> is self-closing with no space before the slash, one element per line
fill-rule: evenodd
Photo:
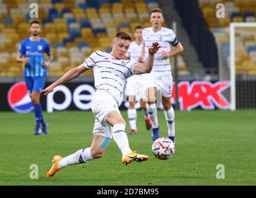
<path fill-rule="evenodd" d="M 162 56 L 162 51 L 171 51 L 171 45 L 175 46 L 179 43 L 173 30 L 162 27 L 158 32 L 153 32 L 152 27 L 144 28 L 142 31 L 144 45 L 145 45 L 145 57 L 149 55 L 149 47 L 153 42 L 158 42 L 161 48 L 155 53 L 154 64 L 152 72 L 160 72 L 160 74 L 170 74 L 171 68 L 169 58 Z"/>

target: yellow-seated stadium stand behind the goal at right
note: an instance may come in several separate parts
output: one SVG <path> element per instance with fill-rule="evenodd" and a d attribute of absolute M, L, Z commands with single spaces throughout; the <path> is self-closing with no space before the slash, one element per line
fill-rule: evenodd
<path fill-rule="evenodd" d="M 199 7 L 206 24 L 213 32 L 217 47 L 221 51 L 220 64 L 229 66 L 229 23 L 230 22 L 255 22 L 256 0 L 226 0 L 225 18 L 215 17 L 214 7 L 216 1 L 200 0 Z M 213 20 L 214 19 L 214 20 Z M 256 29 L 237 28 L 235 32 L 235 56 L 237 74 L 256 74 Z M 223 63 L 222 63 L 223 62 Z"/>

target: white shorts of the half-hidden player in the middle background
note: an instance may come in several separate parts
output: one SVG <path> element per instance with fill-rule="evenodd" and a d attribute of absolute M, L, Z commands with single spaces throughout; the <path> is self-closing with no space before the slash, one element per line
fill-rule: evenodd
<path fill-rule="evenodd" d="M 129 77 L 126 83 L 126 96 L 134 95 L 137 101 L 145 99 L 145 90 L 148 87 L 147 78 L 146 74 L 132 75 Z"/>

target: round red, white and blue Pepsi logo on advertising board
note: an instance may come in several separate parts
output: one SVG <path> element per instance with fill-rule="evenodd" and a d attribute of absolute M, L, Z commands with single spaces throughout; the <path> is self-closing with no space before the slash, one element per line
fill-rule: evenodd
<path fill-rule="evenodd" d="M 25 82 L 17 82 L 8 91 L 7 101 L 12 110 L 18 113 L 29 113 L 34 110 Z"/>

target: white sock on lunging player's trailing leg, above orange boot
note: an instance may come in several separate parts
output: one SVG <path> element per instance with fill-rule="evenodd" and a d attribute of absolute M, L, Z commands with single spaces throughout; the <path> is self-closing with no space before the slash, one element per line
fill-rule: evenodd
<path fill-rule="evenodd" d="M 77 152 L 68 155 L 58 163 L 58 168 L 64 168 L 69 165 L 76 165 L 78 163 L 85 163 L 86 161 L 93 160 L 91 157 L 91 147 L 80 149 Z"/>

